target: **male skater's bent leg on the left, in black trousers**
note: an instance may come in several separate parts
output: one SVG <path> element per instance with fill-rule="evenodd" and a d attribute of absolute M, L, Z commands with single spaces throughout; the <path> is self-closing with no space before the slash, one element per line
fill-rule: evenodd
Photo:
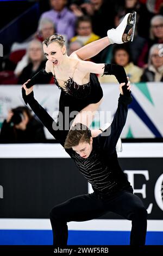
<path fill-rule="evenodd" d="M 53 245 L 66 246 L 68 239 L 67 222 L 88 221 L 104 214 L 100 200 L 92 199 L 90 194 L 73 197 L 55 206 L 50 213 L 53 229 Z"/>

